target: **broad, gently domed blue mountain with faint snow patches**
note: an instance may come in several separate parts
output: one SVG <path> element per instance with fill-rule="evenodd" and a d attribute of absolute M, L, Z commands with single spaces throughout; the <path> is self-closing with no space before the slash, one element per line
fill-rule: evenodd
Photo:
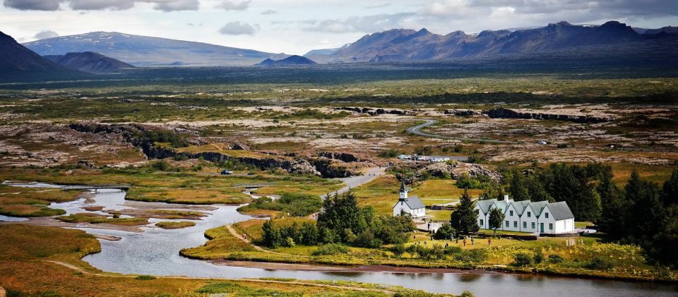
<path fill-rule="evenodd" d="M 46 55 L 94 51 L 134 66 L 249 66 L 288 55 L 118 32 L 90 32 L 24 44 Z"/>

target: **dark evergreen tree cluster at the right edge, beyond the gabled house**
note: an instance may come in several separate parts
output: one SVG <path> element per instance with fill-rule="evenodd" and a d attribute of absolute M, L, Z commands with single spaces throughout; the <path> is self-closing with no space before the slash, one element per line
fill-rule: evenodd
<path fill-rule="evenodd" d="M 678 169 L 662 186 L 634 171 L 623 189 L 612 183 L 612 175 L 604 176 L 597 188 L 602 212 L 596 222 L 601 231 L 643 247 L 650 261 L 678 267 Z"/>

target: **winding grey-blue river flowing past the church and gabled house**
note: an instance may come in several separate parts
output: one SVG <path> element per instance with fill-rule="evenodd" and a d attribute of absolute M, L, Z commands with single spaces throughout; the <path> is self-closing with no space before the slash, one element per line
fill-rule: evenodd
<path fill-rule="evenodd" d="M 93 193 L 93 202 L 87 206 L 104 206 L 105 210 L 129 207 L 125 192 L 99 190 Z M 144 202 L 134 202 L 144 203 Z M 155 206 L 158 203 L 153 203 Z M 160 204 L 162 205 L 162 204 Z M 167 208 L 172 208 L 172 205 Z M 54 208 L 68 212 L 87 212 L 84 201 L 54 203 Z M 678 296 L 678 284 L 577 279 L 570 277 L 535 276 L 487 272 L 456 273 L 393 273 L 393 272 L 317 272 L 231 267 L 191 260 L 179 255 L 182 248 L 201 246 L 207 239 L 207 229 L 239 222 L 251 217 L 237 212 L 237 206 L 213 205 L 205 211 L 208 217 L 195 221 L 196 226 L 165 230 L 143 227 L 143 232 L 126 232 L 82 228 L 90 234 L 117 236 L 120 241 L 100 240 L 101 253 L 83 258 L 93 267 L 106 272 L 122 274 L 149 274 L 156 276 L 189 276 L 215 278 L 283 277 L 295 279 L 340 279 L 379 284 L 393 284 L 434 293 L 461 293 L 472 291 L 476 296 Z M 157 220 L 151 220 L 157 222 Z"/>

